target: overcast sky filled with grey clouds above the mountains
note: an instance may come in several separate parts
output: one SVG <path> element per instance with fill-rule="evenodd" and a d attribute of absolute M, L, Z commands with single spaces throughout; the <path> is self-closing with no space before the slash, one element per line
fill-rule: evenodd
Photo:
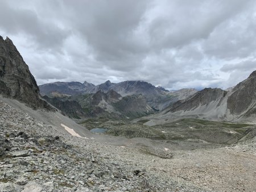
<path fill-rule="evenodd" d="M 38 84 L 236 85 L 256 70 L 256 1 L 0 0 L 0 35 Z"/>

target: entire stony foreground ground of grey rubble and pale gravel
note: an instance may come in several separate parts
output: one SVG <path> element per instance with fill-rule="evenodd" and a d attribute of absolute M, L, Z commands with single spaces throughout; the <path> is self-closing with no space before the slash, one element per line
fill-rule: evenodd
<path fill-rule="evenodd" d="M 0 191 L 256 191 L 255 143 L 114 146 L 60 133 L 0 101 Z"/>

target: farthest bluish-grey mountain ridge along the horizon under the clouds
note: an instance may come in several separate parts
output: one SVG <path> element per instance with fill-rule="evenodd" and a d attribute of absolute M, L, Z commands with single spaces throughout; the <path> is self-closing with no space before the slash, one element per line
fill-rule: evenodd
<path fill-rule="evenodd" d="M 179 99 L 189 97 L 196 93 L 195 89 L 181 89 L 180 91 L 170 92 L 163 87 L 155 87 L 144 81 L 123 81 L 115 84 L 109 80 L 100 85 L 93 85 L 86 81 L 84 84 L 80 82 L 54 82 L 39 85 L 39 89 L 42 95 L 48 95 L 49 97 L 52 97 L 53 93 L 74 96 L 79 94 L 94 94 L 99 90 L 102 90 L 104 93 L 109 90 L 114 90 L 122 97 L 128 95 L 143 95 L 146 98 L 148 105 L 160 111 Z M 184 92 L 186 93 L 184 94 Z"/>

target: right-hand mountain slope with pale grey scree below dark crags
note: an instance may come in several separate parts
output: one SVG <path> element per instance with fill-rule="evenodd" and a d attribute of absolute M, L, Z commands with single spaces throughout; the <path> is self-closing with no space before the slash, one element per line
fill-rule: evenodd
<path fill-rule="evenodd" d="M 188 99 L 180 100 L 147 124 L 163 123 L 181 118 L 256 122 L 256 71 L 233 89 L 206 88 Z"/>

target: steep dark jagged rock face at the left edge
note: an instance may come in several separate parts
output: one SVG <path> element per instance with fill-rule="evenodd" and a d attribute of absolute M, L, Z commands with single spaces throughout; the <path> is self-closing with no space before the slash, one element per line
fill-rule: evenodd
<path fill-rule="evenodd" d="M 39 88 L 28 66 L 8 37 L 0 36 L 0 94 L 17 99 L 33 108 L 48 107 L 40 99 Z"/>

